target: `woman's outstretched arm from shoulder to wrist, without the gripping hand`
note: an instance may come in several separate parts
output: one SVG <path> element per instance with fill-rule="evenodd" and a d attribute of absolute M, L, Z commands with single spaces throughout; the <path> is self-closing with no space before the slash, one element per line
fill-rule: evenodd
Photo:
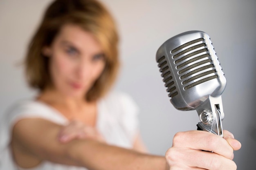
<path fill-rule="evenodd" d="M 24 168 L 48 160 L 90 170 L 166 170 L 164 157 L 146 155 L 92 139 L 74 139 L 61 144 L 58 141 L 60 129 L 61 126 L 44 119 L 18 121 L 13 127 L 11 143 L 16 163 Z"/>

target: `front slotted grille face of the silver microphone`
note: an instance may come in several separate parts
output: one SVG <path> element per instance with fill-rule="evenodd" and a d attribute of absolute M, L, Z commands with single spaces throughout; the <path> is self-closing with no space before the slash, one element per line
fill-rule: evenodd
<path fill-rule="evenodd" d="M 212 49 L 214 49 L 213 46 Z M 209 44 L 205 42 L 205 38 L 198 38 L 182 44 L 171 50 L 171 55 L 185 91 L 198 84 L 218 78 L 212 60 L 213 54 L 210 54 Z M 191 77 L 191 75 L 193 76 Z"/>

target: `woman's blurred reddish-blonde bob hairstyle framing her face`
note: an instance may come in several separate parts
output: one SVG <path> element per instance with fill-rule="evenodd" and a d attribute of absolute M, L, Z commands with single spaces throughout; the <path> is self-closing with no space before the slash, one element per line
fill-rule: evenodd
<path fill-rule="evenodd" d="M 49 75 L 49 57 L 43 55 L 42 49 L 51 45 L 65 24 L 76 24 L 92 33 L 103 48 L 106 56 L 105 68 L 85 95 L 88 101 L 97 100 L 112 86 L 119 68 L 115 22 L 97 0 L 55 0 L 49 5 L 28 47 L 25 58 L 27 82 L 29 86 L 40 91 L 52 83 Z"/>

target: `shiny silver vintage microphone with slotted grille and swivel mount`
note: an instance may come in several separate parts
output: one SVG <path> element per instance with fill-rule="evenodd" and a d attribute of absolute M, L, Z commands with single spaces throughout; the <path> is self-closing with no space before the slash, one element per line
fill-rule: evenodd
<path fill-rule="evenodd" d="M 188 31 L 170 38 L 156 54 L 170 101 L 178 110 L 196 110 L 198 130 L 223 137 L 221 94 L 226 78 L 207 33 Z"/>

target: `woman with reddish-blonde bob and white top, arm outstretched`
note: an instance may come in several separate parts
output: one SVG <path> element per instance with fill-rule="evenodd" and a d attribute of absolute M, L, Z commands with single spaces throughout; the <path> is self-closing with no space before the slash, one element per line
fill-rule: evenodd
<path fill-rule="evenodd" d="M 99 2 L 56 0 L 48 7 L 25 60 L 29 85 L 39 93 L 13 105 L 3 120 L 1 134 L 9 140 L 1 166 L 236 169 L 233 151 L 240 143 L 227 131 L 225 139 L 204 131 L 179 132 L 166 158 L 142 153 L 135 104 L 127 95 L 107 93 L 119 65 L 117 42 L 112 17 Z"/>

